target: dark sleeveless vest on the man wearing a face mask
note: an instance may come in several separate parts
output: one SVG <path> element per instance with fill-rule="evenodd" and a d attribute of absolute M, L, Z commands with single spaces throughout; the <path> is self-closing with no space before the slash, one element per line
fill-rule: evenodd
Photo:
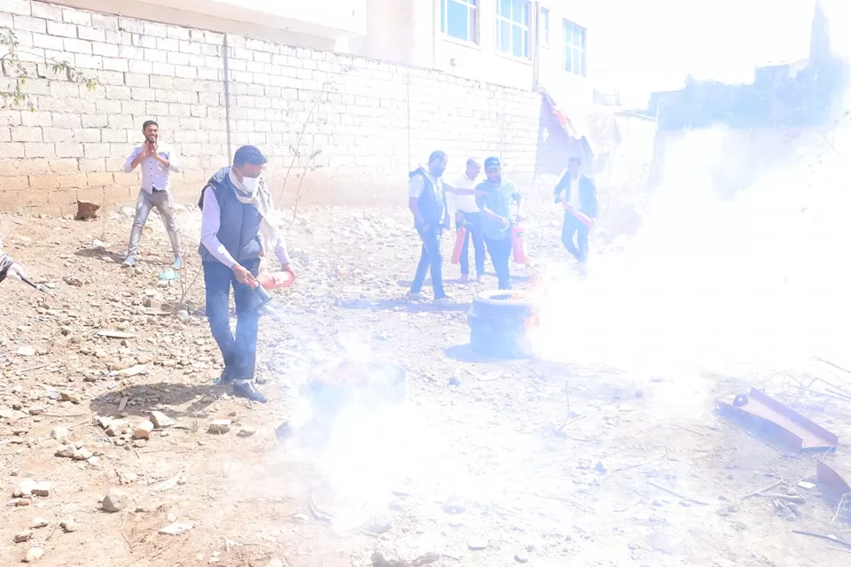
<path fill-rule="evenodd" d="M 223 167 L 210 177 L 207 186 L 201 190 L 198 206 L 204 208 L 204 191 L 213 190 L 221 211 L 221 224 L 215 236 L 234 260 L 254 260 L 263 252 L 260 240 L 262 217 L 256 206 L 239 202 L 229 174 L 230 167 Z M 205 245 L 200 245 L 198 252 L 202 261 L 218 261 Z"/>

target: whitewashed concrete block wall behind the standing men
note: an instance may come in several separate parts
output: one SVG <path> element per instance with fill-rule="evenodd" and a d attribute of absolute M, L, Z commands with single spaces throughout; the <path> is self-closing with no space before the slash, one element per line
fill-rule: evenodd
<path fill-rule="evenodd" d="M 532 182 L 535 93 L 30 0 L 0 0 L 0 26 L 14 31 L 35 77 L 24 86 L 34 110 L 0 109 L 2 209 L 134 200 L 137 174 L 121 167 L 148 119 L 180 154 L 172 183 L 188 202 L 228 165 L 229 137 L 230 151 L 255 144 L 266 153 L 282 206 L 293 204 L 302 175 L 302 204 L 401 205 L 407 172 L 435 149 L 449 153 L 450 175 L 471 155 L 494 154 L 517 182 Z M 98 86 L 53 75 L 51 59 Z M 296 159 L 284 188 L 294 152 L 315 157 Z"/>

